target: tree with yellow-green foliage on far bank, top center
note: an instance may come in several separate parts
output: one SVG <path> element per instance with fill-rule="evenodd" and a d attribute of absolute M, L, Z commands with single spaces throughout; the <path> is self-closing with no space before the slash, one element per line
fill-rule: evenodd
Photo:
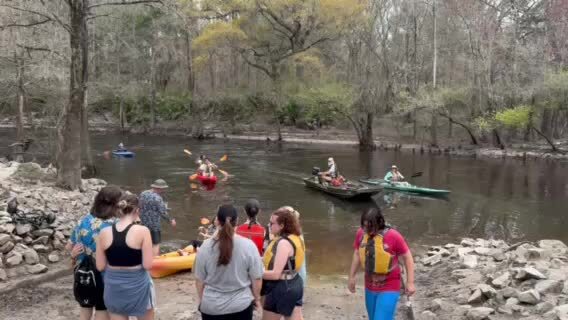
<path fill-rule="evenodd" d="M 356 0 L 206 1 L 204 14 L 220 21 L 207 26 L 194 40 L 202 59 L 222 48 L 234 49 L 272 83 L 273 106 L 283 105 L 282 80 L 291 57 L 336 39 L 356 22 Z M 205 54 L 205 56 L 204 56 Z M 282 140 L 280 121 L 278 139 Z"/>

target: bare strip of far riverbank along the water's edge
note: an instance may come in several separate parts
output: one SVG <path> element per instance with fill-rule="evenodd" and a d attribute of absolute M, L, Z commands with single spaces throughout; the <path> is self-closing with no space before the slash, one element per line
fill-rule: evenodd
<path fill-rule="evenodd" d="M 0 121 L 0 128 L 14 128 L 15 122 L 8 119 Z M 110 115 L 98 115 L 89 120 L 90 130 L 97 133 L 118 132 L 119 127 L 116 120 Z M 161 122 L 155 129 L 147 127 L 128 128 L 127 132 L 133 134 L 148 134 L 157 136 L 180 136 L 190 137 L 191 133 L 187 127 L 187 123 L 177 121 Z M 38 125 L 41 127 L 41 123 Z M 209 124 L 205 126 L 202 139 L 229 139 L 229 140 L 247 140 L 262 141 L 267 143 L 277 143 L 278 135 L 274 128 L 269 126 L 247 127 L 243 126 L 238 131 L 240 133 L 227 133 L 219 130 L 217 126 Z M 352 130 L 340 128 L 303 130 L 293 127 L 285 127 L 282 131 L 282 143 L 297 144 L 320 144 L 320 145 L 343 145 L 357 146 L 358 141 Z M 515 142 L 511 143 L 505 149 L 488 147 L 486 145 L 474 146 L 462 139 L 441 139 L 440 145 L 436 147 L 430 146 L 428 143 L 415 143 L 412 139 L 386 136 L 376 134 L 374 139 L 376 148 L 379 150 L 395 150 L 409 153 L 432 154 L 432 155 L 450 155 L 456 157 L 470 158 L 494 158 L 494 159 L 519 159 L 519 160 L 568 160 L 568 140 L 557 140 L 556 147 L 564 150 L 565 153 L 551 152 L 550 146 L 542 141 L 534 142 Z"/>

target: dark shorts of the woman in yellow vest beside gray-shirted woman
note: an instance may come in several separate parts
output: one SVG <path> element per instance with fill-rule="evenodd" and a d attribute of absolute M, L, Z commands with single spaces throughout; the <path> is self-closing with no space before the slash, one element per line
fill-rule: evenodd
<path fill-rule="evenodd" d="M 263 309 L 290 317 L 295 307 L 302 306 L 304 282 L 300 275 L 292 280 L 278 280 L 263 286 L 265 294 Z"/>

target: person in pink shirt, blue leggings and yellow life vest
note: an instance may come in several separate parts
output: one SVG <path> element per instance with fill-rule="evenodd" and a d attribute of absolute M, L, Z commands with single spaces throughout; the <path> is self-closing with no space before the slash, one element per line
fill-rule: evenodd
<path fill-rule="evenodd" d="M 414 260 L 406 241 L 398 231 L 386 225 L 380 209 L 372 208 L 361 216 L 353 249 L 349 291 L 355 293 L 356 274 L 362 266 L 369 320 L 394 319 L 401 289 L 399 258 L 406 268 L 405 294 L 411 296 L 416 292 Z"/>

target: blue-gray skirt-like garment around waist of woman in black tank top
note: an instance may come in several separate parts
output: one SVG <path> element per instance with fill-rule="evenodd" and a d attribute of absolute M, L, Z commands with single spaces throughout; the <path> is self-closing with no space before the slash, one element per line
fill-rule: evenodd
<path fill-rule="evenodd" d="M 145 269 L 107 268 L 104 284 L 104 301 L 110 313 L 142 317 L 155 307 L 154 284 Z"/>

